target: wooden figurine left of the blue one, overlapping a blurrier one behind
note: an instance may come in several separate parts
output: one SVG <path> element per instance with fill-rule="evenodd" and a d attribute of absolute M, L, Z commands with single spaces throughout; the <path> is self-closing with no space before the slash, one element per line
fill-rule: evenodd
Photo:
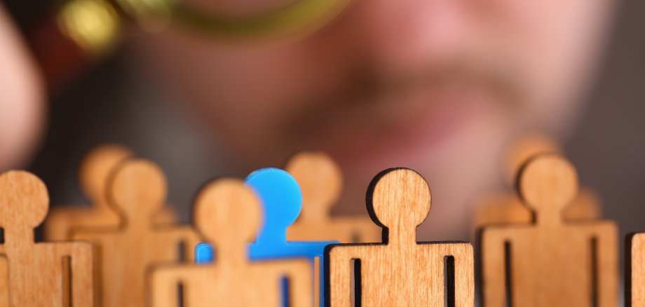
<path fill-rule="evenodd" d="M 109 205 L 123 222 L 102 228 L 72 230 L 76 240 L 95 244 L 97 295 L 103 307 L 144 306 L 145 271 L 152 264 L 194 259 L 201 241 L 190 226 L 154 224 L 151 217 L 165 203 L 166 182 L 159 168 L 143 159 L 118 165 L 107 184 Z"/>

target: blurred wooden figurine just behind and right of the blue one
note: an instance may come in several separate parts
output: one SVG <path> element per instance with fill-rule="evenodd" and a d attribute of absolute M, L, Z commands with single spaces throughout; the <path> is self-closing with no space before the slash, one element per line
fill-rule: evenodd
<path fill-rule="evenodd" d="M 322 152 L 302 152 L 285 168 L 302 189 L 302 212 L 287 228 L 287 240 L 337 240 L 341 243 L 380 242 L 381 229 L 369 217 L 332 217 L 340 196 L 338 165 Z"/>

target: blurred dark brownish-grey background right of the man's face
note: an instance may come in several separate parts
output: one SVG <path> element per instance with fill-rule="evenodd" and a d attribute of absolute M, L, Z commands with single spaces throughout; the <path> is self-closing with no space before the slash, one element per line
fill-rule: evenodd
<path fill-rule="evenodd" d="M 621 233 L 645 230 L 645 1 L 618 7 L 605 61 L 566 152 Z"/>

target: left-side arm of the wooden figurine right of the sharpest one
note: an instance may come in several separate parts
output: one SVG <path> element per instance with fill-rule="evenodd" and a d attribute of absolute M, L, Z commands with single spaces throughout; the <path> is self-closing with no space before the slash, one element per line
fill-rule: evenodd
<path fill-rule="evenodd" d="M 506 304 L 506 270 L 509 259 L 505 256 L 505 242 L 512 242 L 503 228 L 484 229 L 480 237 L 480 257 L 482 259 L 482 306 L 501 307 Z M 512 302 L 509 302 L 512 303 Z"/>

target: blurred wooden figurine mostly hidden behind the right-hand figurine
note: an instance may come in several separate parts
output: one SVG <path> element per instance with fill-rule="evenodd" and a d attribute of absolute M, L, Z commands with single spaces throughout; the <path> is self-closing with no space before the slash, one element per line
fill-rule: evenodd
<path fill-rule="evenodd" d="M 540 153 L 560 153 L 555 139 L 547 135 L 524 135 L 510 144 L 505 155 L 504 179 L 507 186 L 512 186 L 517 171 L 531 156 Z M 599 197 L 590 189 L 581 189 L 575 200 L 563 212 L 565 221 L 583 221 L 599 219 L 602 216 Z M 475 206 L 473 214 L 474 228 L 495 224 L 529 224 L 533 221 L 533 212 L 522 203 L 522 200 L 510 191 L 496 191 L 482 196 Z"/>

